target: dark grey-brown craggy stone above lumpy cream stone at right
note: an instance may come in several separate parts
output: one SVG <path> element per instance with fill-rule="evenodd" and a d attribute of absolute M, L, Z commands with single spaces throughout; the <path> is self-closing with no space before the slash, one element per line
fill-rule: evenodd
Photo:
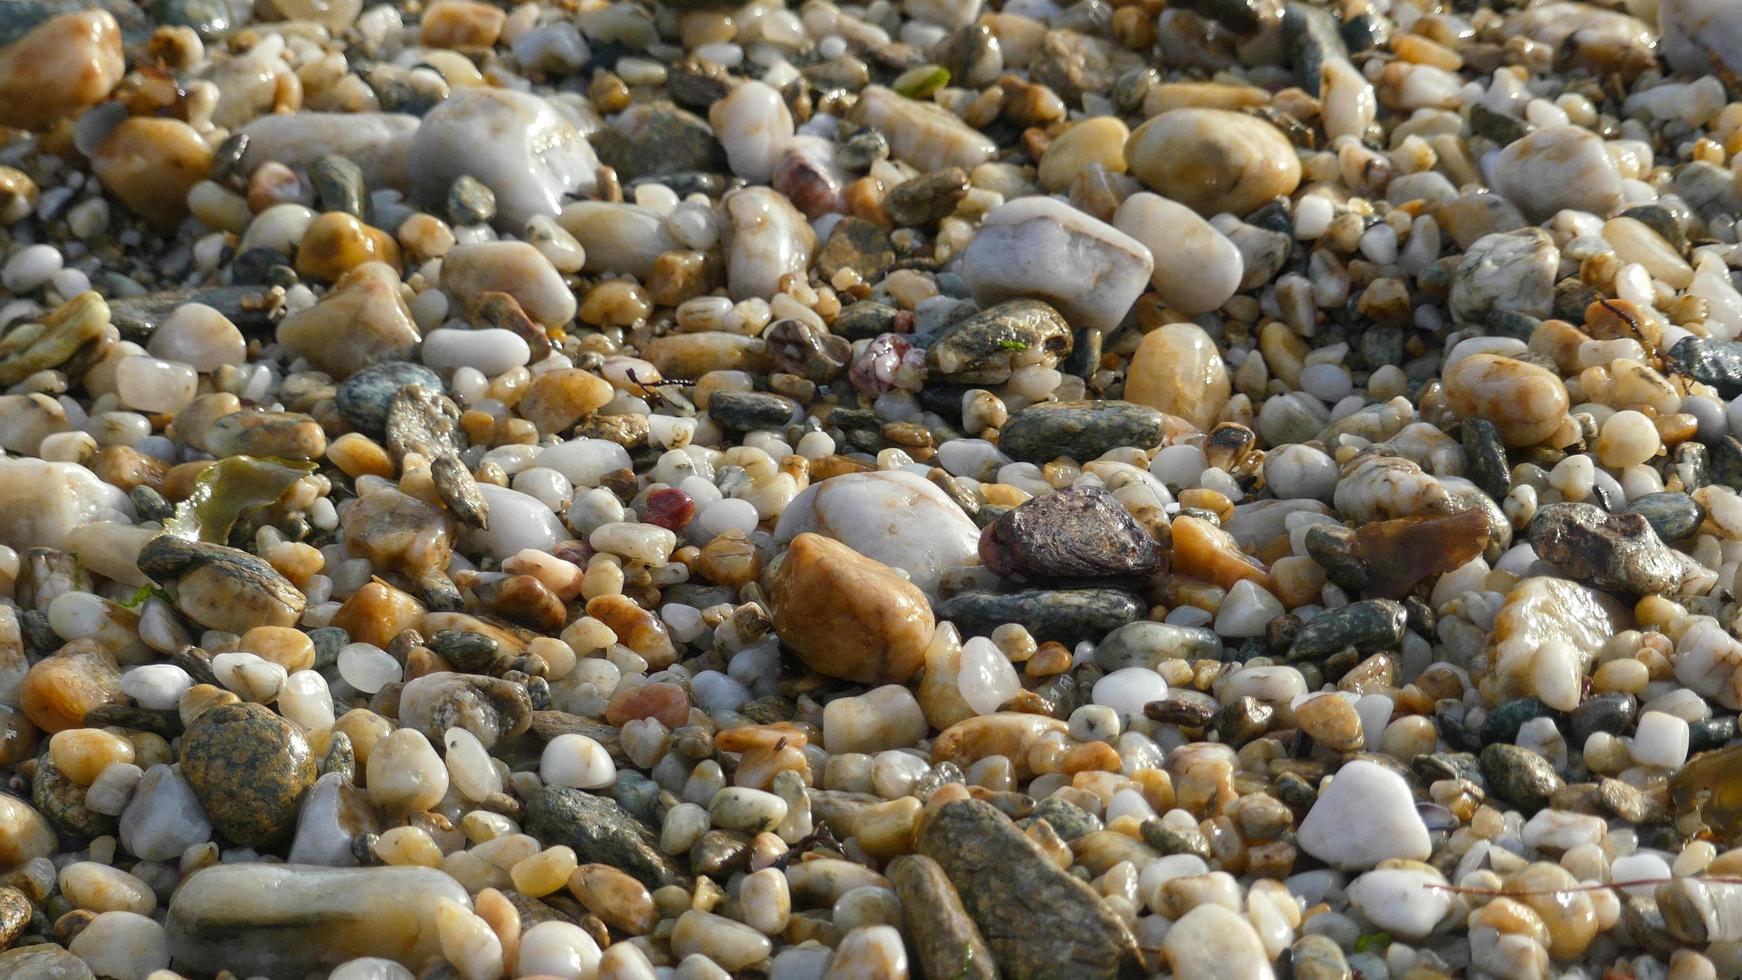
<path fill-rule="evenodd" d="M 1681 587 L 1681 560 L 1641 513 L 1550 503 L 1536 512 L 1529 543 L 1542 560 L 1597 588 L 1651 595 Z"/>

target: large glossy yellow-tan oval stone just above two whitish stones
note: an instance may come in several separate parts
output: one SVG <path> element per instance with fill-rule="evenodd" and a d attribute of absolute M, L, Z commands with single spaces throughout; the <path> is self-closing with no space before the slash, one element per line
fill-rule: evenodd
<path fill-rule="evenodd" d="M 1204 218 L 1247 216 L 1301 181 L 1300 157 L 1268 122 L 1228 110 L 1164 111 L 1125 143 L 1131 174 Z"/>

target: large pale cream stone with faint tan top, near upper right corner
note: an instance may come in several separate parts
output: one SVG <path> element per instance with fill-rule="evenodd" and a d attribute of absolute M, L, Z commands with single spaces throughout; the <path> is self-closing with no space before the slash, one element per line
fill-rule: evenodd
<path fill-rule="evenodd" d="M 1575 125 L 1549 125 L 1507 144 L 1489 178 L 1531 221 L 1563 209 L 1606 218 L 1624 202 L 1622 176 L 1603 138 Z"/>

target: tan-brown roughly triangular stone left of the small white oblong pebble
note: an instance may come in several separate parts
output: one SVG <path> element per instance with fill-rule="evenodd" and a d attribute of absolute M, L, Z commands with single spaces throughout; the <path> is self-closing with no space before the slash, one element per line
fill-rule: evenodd
<path fill-rule="evenodd" d="M 385 263 L 362 263 L 319 303 L 279 322 L 277 339 L 315 369 L 345 379 L 371 364 L 406 360 L 420 334 L 399 273 Z"/>

